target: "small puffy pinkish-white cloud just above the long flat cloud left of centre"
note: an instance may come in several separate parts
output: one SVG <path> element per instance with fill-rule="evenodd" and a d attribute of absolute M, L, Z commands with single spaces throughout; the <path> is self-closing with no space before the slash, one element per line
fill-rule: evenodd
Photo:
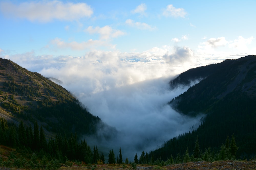
<path fill-rule="evenodd" d="M 109 38 L 116 38 L 121 35 L 125 35 L 125 32 L 122 32 L 120 30 L 114 30 L 110 26 L 106 25 L 104 27 L 95 27 L 92 26 L 88 27 L 84 31 L 89 32 L 90 34 L 100 34 L 100 39 L 109 39 Z"/>

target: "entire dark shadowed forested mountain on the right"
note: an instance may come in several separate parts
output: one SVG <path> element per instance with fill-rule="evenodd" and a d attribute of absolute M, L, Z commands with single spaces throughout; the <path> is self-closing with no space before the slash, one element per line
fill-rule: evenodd
<path fill-rule="evenodd" d="M 190 69 L 170 86 L 199 83 L 169 102 L 180 114 L 204 114 L 197 130 L 181 134 L 151 152 L 156 158 L 167 160 L 171 155 L 193 154 L 196 137 L 201 151 L 207 147 L 220 148 L 227 135 L 234 134 L 239 147 L 237 158 L 251 158 L 256 154 L 256 56 L 225 60 L 218 64 Z"/>

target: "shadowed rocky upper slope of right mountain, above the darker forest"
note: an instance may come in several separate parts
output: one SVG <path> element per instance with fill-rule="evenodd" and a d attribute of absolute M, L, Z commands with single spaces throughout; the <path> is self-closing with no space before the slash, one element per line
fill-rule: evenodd
<path fill-rule="evenodd" d="M 205 112 L 228 94 L 256 95 L 256 56 L 225 60 L 190 69 L 170 82 L 171 86 L 202 79 L 170 103 L 184 114 Z M 184 107 L 186 106 L 186 107 Z"/>

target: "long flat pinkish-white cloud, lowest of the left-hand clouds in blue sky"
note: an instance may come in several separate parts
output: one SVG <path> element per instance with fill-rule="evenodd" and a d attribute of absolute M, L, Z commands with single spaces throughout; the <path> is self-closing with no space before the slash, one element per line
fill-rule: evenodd
<path fill-rule="evenodd" d="M 73 42 L 65 42 L 63 40 L 61 40 L 61 38 L 55 38 L 54 40 L 51 40 L 51 44 L 53 45 L 57 45 L 58 48 L 70 48 L 72 50 L 84 50 L 84 49 L 92 49 L 98 46 L 106 46 L 106 47 L 110 47 L 110 48 L 114 48 L 113 45 L 105 42 L 105 41 L 101 41 L 101 40 L 88 40 L 87 42 L 81 42 L 78 43 L 76 41 Z"/>

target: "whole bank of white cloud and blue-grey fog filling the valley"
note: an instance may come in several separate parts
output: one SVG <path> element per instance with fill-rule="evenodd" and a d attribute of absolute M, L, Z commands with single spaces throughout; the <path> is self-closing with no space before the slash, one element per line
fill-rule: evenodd
<path fill-rule="evenodd" d="M 106 160 L 109 150 L 118 155 L 121 147 L 123 159 L 133 161 L 135 153 L 149 153 L 200 124 L 201 115 L 187 117 L 167 104 L 189 87 L 170 89 L 168 82 L 179 73 L 205 65 L 187 47 L 155 47 L 143 53 L 91 51 L 81 57 L 35 56 L 31 52 L 3 58 L 52 77 L 99 116 L 108 126 L 99 124 L 97 135 L 84 138 L 92 148 L 97 145 Z"/>

